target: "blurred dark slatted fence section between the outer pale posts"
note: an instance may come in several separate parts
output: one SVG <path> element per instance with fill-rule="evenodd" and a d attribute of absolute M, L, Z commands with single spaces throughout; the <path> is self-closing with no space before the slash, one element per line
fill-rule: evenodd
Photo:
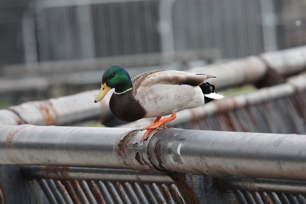
<path fill-rule="evenodd" d="M 39 61 L 203 48 L 218 48 L 226 58 L 244 57 L 263 52 L 260 6 L 245 1 L 38 1 L 32 11 L 37 34 L 24 40 L 36 42 L 28 49 L 38 45 L 33 55 Z"/>

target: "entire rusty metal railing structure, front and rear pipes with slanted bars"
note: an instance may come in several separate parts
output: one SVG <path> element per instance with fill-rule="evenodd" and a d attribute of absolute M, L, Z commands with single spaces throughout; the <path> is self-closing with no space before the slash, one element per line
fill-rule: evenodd
<path fill-rule="evenodd" d="M 220 87 L 273 85 L 305 69 L 304 51 L 211 67 Z M 306 203 L 304 75 L 181 111 L 170 127 L 184 129 L 160 129 L 143 143 L 141 121 L 52 126 L 109 119 L 107 98 L 93 103 L 97 91 L 0 110 L 0 203 Z"/>

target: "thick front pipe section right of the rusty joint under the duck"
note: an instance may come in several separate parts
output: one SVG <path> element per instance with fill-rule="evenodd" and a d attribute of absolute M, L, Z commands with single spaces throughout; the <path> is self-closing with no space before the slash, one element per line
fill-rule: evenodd
<path fill-rule="evenodd" d="M 153 165 L 164 170 L 306 180 L 305 141 L 306 135 L 169 128 L 153 136 L 149 151 Z"/>

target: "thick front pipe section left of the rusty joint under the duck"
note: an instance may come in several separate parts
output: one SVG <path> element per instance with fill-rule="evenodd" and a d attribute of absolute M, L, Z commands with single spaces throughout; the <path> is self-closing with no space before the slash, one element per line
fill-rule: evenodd
<path fill-rule="evenodd" d="M 123 159 L 125 150 L 122 148 L 129 141 L 122 140 L 126 135 L 133 136 L 130 131 L 126 128 L 3 125 L 0 126 L 0 164 L 154 170 L 152 166 L 129 166 L 128 161 L 132 159 Z M 142 145 L 139 143 L 138 148 Z M 133 157 L 135 159 L 135 155 Z"/>

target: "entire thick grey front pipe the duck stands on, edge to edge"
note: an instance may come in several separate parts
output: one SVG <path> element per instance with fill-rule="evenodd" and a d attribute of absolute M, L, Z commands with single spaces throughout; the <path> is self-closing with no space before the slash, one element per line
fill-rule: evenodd
<path fill-rule="evenodd" d="M 306 180 L 306 135 L 169 128 L 140 143 L 144 131 L 123 128 L 19 125 L 0 133 L 1 164 Z"/>

